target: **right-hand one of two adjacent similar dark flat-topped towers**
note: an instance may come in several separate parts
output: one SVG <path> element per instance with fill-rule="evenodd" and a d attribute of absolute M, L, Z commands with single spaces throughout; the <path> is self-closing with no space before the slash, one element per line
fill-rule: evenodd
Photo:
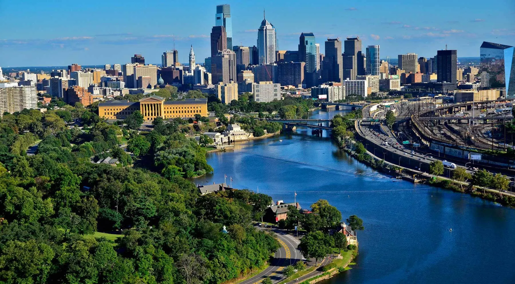
<path fill-rule="evenodd" d="M 365 56 L 361 49 L 359 38 L 347 38 L 344 42 L 344 78 L 355 80 L 357 75 L 365 75 Z"/>

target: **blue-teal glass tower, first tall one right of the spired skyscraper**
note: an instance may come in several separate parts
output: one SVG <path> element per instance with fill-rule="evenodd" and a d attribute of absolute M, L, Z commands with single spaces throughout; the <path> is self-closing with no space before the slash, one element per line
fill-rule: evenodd
<path fill-rule="evenodd" d="M 317 74 L 317 47 L 313 32 L 303 32 L 299 37 L 299 61 L 305 62 L 304 72 L 306 80 L 303 86 L 306 88 L 316 85 Z M 281 74 L 281 72 L 279 72 Z"/>

